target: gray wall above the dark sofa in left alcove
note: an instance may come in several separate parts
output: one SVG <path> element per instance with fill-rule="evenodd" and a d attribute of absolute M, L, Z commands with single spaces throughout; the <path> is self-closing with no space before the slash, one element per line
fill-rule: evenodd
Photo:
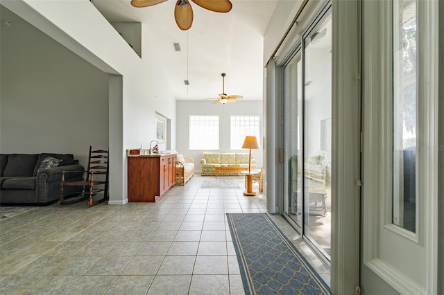
<path fill-rule="evenodd" d="M 108 74 L 3 7 L 0 35 L 0 152 L 108 148 Z"/>

